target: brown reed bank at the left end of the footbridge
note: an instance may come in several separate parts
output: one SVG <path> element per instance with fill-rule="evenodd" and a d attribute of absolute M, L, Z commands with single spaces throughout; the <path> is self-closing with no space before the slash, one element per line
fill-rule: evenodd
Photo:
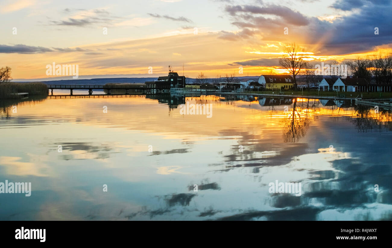
<path fill-rule="evenodd" d="M 42 82 L 14 83 L 6 82 L 0 84 L 0 99 L 18 98 L 15 93 L 29 93 L 29 96 L 48 95 L 49 89 Z"/>

